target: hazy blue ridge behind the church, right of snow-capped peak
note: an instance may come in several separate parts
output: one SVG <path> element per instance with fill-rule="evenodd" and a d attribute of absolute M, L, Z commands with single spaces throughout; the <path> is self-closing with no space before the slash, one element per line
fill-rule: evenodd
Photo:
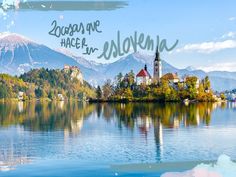
<path fill-rule="evenodd" d="M 134 71 L 134 73 L 138 73 L 138 71 L 143 68 L 145 64 L 147 64 L 148 71 L 152 75 L 152 62 L 154 57 L 155 56 L 142 55 L 140 53 L 130 54 L 106 66 L 106 69 L 104 69 L 104 75 L 108 78 L 114 78 L 117 73 L 122 72 L 125 74 L 131 69 Z M 193 67 L 178 69 L 167 63 L 165 60 L 162 60 L 162 68 L 163 74 L 169 72 L 178 73 L 180 78 L 183 78 L 186 75 L 197 76 L 200 79 L 209 76 L 212 88 L 216 91 L 232 90 L 236 88 L 236 72 L 214 71 L 207 73 L 203 70 L 197 70 Z"/>

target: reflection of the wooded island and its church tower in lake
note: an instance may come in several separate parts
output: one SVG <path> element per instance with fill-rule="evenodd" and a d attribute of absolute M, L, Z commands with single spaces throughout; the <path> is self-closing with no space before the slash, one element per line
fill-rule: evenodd
<path fill-rule="evenodd" d="M 198 103 L 188 106 L 179 103 L 128 103 L 97 105 L 98 116 L 109 121 L 116 118 L 120 129 L 133 131 L 135 128 L 147 137 L 151 127 L 156 143 L 156 160 L 160 162 L 163 154 L 163 128 L 175 129 L 189 126 L 209 126 L 211 114 L 217 107 L 224 109 L 226 103 Z"/>

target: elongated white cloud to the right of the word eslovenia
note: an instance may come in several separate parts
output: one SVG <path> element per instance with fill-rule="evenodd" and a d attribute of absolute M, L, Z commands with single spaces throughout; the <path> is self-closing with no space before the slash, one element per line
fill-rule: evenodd
<path fill-rule="evenodd" d="M 187 44 L 182 48 L 177 49 L 177 52 L 199 52 L 199 53 L 212 53 L 224 49 L 236 48 L 235 40 L 225 40 L 219 42 L 203 42 L 195 44 Z"/>

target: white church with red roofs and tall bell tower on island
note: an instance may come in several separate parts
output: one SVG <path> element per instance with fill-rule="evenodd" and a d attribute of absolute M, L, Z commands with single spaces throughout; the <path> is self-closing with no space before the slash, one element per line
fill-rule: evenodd
<path fill-rule="evenodd" d="M 145 64 L 144 68 L 141 69 L 136 75 L 137 85 L 151 85 L 160 83 L 161 78 L 167 79 L 170 83 L 176 84 L 180 81 L 177 74 L 167 73 L 162 75 L 162 63 L 160 58 L 160 52 L 156 50 L 156 56 L 153 61 L 153 77 L 147 70 L 147 65 Z"/>

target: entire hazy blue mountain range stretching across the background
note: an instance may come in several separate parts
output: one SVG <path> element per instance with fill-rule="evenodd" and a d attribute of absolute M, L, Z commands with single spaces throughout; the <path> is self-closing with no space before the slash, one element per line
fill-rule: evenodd
<path fill-rule="evenodd" d="M 33 68 L 61 69 L 65 64 L 78 66 L 85 80 L 93 85 L 101 85 L 107 79 L 114 79 L 118 73 L 134 73 L 147 64 L 148 71 L 153 73 L 154 55 L 133 53 L 119 60 L 101 64 L 79 57 L 66 49 L 53 50 L 45 45 L 38 44 L 24 36 L 14 33 L 0 34 L 0 72 L 19 75 Z M 214 90 L 232 90 L 236 88 L 236 72 L 212 71 L 204 72 L 194 67 L 178 69 L 162 60 L 163 74 L 178 73 L 182 78 L 186 75 L 195 75 L 199 78 L 209 76 Z"/>

